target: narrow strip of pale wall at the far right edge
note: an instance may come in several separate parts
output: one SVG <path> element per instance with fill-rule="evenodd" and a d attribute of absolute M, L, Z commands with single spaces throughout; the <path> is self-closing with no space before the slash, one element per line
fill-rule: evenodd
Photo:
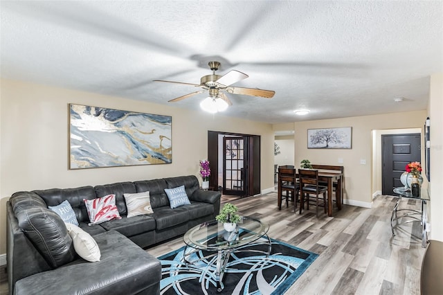
<path fill-rule="evenodd" d="M 431 238 L 443 241 L 443 73 L 431 75 L 428 114 L 431 121 Z"/>

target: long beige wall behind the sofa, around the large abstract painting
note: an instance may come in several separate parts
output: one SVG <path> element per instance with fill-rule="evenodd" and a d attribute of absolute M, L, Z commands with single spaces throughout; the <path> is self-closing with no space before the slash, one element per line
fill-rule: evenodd
<path fill-rule="evenodd" d="M 273 190 L 272 125 L 100 96 L 39 84 L 0 80 L 0 253 L 6 253 L 6 201 L 19 190 L 74 188 L 198 175 L 199 160 L 207 157 L 208 130 L 261 136 L 262 190 Z M 69 103 L 172 116 L 172 163 L 69 170 Z"/>

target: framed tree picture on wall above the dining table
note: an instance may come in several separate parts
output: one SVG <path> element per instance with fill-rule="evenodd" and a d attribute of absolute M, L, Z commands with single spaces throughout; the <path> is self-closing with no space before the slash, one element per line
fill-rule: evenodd
<path fill-rule="evenodd" d="M 352 127 L 307 129 L 307 148 L 343 148 L 352 146 Z"/>

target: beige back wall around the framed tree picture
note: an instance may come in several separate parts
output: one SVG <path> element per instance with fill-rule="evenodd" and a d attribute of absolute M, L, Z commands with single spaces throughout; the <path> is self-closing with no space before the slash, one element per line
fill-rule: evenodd
<path fill-rule="evenodd" d="M 295 162 L 309 159 L 314 164 L 340 165 L 345 168 L 343 202 L 355 206 L 372 204 L 372 130 L 422 128 L 426 111 L 383 114 L 296 122 Z M 308 149 L 307 129 L 352 127 L 352 149 Z M 343 163 L 338 163 L 338 159 Z M 366 163 L 361 164 L 361 160 Z M 296 165 L 297 167 L 300 164 Z"/>

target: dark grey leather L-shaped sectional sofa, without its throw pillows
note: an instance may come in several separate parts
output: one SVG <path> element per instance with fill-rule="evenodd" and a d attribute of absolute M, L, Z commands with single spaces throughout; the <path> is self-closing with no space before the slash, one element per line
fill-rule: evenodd
<path fill-rule="evenodd" d="M 181 185 L 191 204 L 171 209 L 164 189 Z M 145 191 L 150 191 L 154 213 L 127 218 L 123 194 Z M 89 226 L 83 199 L 109 194 L 116 195 L 122 219 Z M 215 219 L 220 196 L 199 189 L 193 175 L 15 193 L 7 205 L 10 294 L 159 294 L 160 262 L 142 248 Z M 99 262 L 76 256 L 64 222 L 47 208 L 64 200 L 71 204 L 80 228 L 96 240 Z"/>

